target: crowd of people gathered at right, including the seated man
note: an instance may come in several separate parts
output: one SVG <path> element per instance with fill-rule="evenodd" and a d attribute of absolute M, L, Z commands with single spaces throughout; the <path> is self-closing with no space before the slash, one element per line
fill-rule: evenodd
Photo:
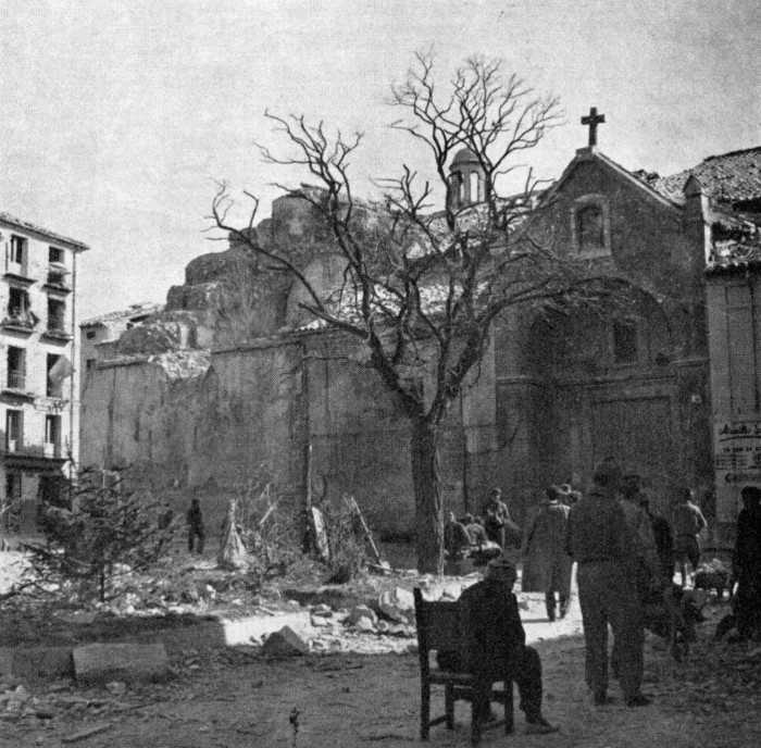
<path fill-rule="evenodd" d="M 752 493 L 754 498 L 748 499 L 744 510 L 749 519 L 740 516 L 747 531 L 738 535 L 739 550 L 735 554 L 735 565 L 746 570 L 740 572 L 745 574 L 740 577 L 743 600 L 753 596 L 761 599 L 761 491 Z M 569 485 L 550 486 L 528 513 L 520 544 L 522 590 L 544 593 L 548 619 L 562 619 L 571 601 L 572 568 L 577 564 L 585 678 L 596 705 L 611 700 L 609 662 L 625 705 L 650 703 L 643 693 L 645 604 L 663 599 L 663 593 L 673 584 L 675 563 L 679 564 L 685 586 L 686 564 L 691 565 L 693 573 L 698 569 L 699 536 L 706 524 L 690 489 L 679 495 L 671 521 L 653 512 L 639 476 L 624 475 L 613 460 L 604 460 L 596 467 L 592 485 L 583 497 Z M 495 489 L 484 507 L 483 521 L 466 515 L 459 522 L 453 513 L 449 514 L 446 552 L 448 557 L 461 558 L 469 548 L 483 544 L 484 538 L 503 551 L 506 545 L 511 545 L 509 534 L 515 533 L 508 507 L 499 489 Z M 746 582 L 744 588 L 741 579 L 750 577 L 753 584 Z M 554 732 L 556 727 L 541 716 L 541 663 L 535 650 L 525 645 L 512 594 L 515 579 L 515 566 L 500 553 L 489 561 L 483 582 L 465 589 L 461 597 L 462 604 L 470 609 L 474 647 L 470 661 L 481 684 L 476 688 L 477 713 L 486 719 L 488 689 L 494 681 L 504 676 L 507 663 L 521 693 L 527 732 Z M 756 607 L 761 623 L 761 604 Z M 609 627 L 613 634 L 610 660 Z"/>

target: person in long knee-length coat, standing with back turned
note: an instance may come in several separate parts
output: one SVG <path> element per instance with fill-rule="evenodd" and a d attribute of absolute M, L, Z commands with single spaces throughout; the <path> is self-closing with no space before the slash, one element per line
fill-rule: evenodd
<path fill-rule="evenodd" d="M 571 600 L 573 559 L 565 552 L 565 531 L 569 512 L 558 486 L 550 486 L 547 496 L 528 514 L 523 533 L 521 556 L 524 593 L 545 593 L 547 618 L 556 619 L 556 599 L 560 598 L 560 618 L 565 618 Z"/>

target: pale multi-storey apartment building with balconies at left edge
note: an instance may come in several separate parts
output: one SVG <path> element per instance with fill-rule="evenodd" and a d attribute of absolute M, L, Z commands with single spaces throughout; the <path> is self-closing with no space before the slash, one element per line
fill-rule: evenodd
<path fill-rule="evenodd" d="M 77 255 L 89 249 L 0 213 L 0 529 L 35 528 L 78 454 Z"/>

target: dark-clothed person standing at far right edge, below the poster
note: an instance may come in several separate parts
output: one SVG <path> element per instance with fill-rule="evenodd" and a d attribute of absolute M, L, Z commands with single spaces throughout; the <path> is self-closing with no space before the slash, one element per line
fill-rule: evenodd
<path fill-rule="evenodd" d="M 743 509 L 732 554 L 737 594 L 732 609 L 738 640 L 747 640 L 761 635 L 761 489 L 746 486 L 740 496 Z"/>

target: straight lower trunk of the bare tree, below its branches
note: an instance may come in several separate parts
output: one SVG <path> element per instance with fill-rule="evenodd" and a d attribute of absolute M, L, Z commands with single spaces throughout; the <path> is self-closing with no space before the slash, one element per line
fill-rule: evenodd
<path fill-rule="evenodd" d="M 438 427 L 412 420 L 412 484 L 415 491 L 417 571 L 444 573 L 444 512 L 438 476 Z"/>

